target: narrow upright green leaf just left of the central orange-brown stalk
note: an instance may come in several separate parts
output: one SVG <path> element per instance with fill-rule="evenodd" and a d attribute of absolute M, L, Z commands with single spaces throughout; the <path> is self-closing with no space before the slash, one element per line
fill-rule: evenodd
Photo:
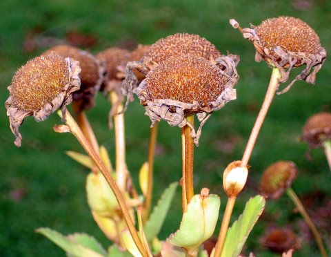
<path fill-rule="evenodd" d="M 150 218 L 146 222 L 143 231 L 145 232 L 146 239 L 148 240 L 148 242 L 151 242 L 153 238 L 159 234 L 165 217 L 167 216 L 167 213 L 169 211 L 170 204 L 172 198 L 174 197 L 174 193 L 177 189 L 177 186 L 178 183 L 174 182 L 170 184 L 167 189 L 165 189 L 165 191 L 162 193 L 161 198 L 157 202 L 157 205 L 154 207 Z"/>

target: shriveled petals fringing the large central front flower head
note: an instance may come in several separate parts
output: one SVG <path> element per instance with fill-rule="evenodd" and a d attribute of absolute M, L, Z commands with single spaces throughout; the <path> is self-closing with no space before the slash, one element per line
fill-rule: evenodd
<path fill-rule="evenodd" d="M 214 60 L 215 64 L 220 68 L 222 75 L 229 77 L 229 81 L 224 86 L 224 90 L 217 97 L 216 101 L 208 102 L 205 106 L 200 106 L 199 102 L 193 102 L 192 104 L 174 101 L 172 99 L 150 99 L 146 92 L 146 81 L 143 80 L 137 88 L 134 89 L 134 93 L 138 95 L 143 105 L 146 108 L 146 115 L 150 117 L 152 122 L 151 127 L 155 122 L 165 120 L 170 126 L 179 126 L 182 128 L 188 125 L 192 128 L 191 136 L 194 138 L 194 143 L 199 145 L 199 137 L 201 136 L 202 126 L 210 117 L 213 111 L 217 111 L 222 108 L 227 102 L 237 98 L 237 91 L 233 87 L 237 84 L 239 75 L 237 73 L 236 66 L 239 62 L 239 56 L 237 55 L 222 55 Z M 197 117 L 200 123 L 197 131 L 194 130 L 190 122 L 185 118 L 185 115 L 190 113 L 197 113 Z"/>

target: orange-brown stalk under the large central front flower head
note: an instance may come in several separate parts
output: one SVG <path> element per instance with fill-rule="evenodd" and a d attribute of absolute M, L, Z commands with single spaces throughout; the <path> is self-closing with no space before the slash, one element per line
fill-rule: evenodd
<path fill-rule="evenodd" d="M 192 127 L 194 126 L 194 114 L 185 116 L 187 122 Z M 186 211 L 188 203 L 194 196 L 193 184 L 193 160 L 194 160 L 194 140 L 191 136 L 192 129 L 190 126 L 185 125 L 181 128 L 182 139 L 182 160 L 183 160 L 183 176 L 182 176 L 182 200 L 183 212 Z"/>

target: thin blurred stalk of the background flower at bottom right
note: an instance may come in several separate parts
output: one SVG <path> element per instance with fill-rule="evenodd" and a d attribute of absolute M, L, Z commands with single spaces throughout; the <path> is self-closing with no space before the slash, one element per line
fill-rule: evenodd
<path fill-rule="evenodd" d="M 299 212 L 303 216 L 303 219 L 305 220 L 308 227 L 312 231 L 312 234 L 313 234 L 313 236 L 315 238 L 315 241 L 316 241 L 316 243 L 319 247 L 319 251 L 321 252 L 321 255 L 323 257 L 327 257 L 328 255 L 326 254 L 325 248 L 323 246 L 323 241 L 322 241 L 321 235 L 319 234 L 319 231 L 317 231 L 317 228 L 315 227 L 314 222 L 312 222 L 312 219 L 308 215 L 307 211 L 305 211 L 305 207 L 303 207 L 303 204 L 301 203 L 301 200 L 299 199 L 299 197 L 297 196 L 297 194 L 293 191 L 293 189 L 291 187 L 289 187 L 286 190 L 286 193 L 288 194 L 288 196 L 290 197 L 290 199 L 292 200 L 294 205 L 297 207 L 297 209 L 299 210 Z"/>

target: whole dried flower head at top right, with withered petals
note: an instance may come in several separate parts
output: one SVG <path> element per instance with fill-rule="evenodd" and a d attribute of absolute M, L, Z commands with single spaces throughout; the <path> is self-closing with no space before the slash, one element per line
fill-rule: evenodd
<path fill-rule="evenodd" d="M 321 46 L 319 36 L 307 23 L 294 17 L 266 19 L 259 26 L 243 29 L 234 19 L 231 19 L 230 23 L 252 42 L 257 51 L 256 61 L 264 59 L 270 66 L 279 68 L 279 82 L 288 81 L 292 68 L 305 65 L 301 73 L 281 93 L 287 92 L 297 80 L 314 84 L 316 74 L 325 61 L 326 52 Z"/>

